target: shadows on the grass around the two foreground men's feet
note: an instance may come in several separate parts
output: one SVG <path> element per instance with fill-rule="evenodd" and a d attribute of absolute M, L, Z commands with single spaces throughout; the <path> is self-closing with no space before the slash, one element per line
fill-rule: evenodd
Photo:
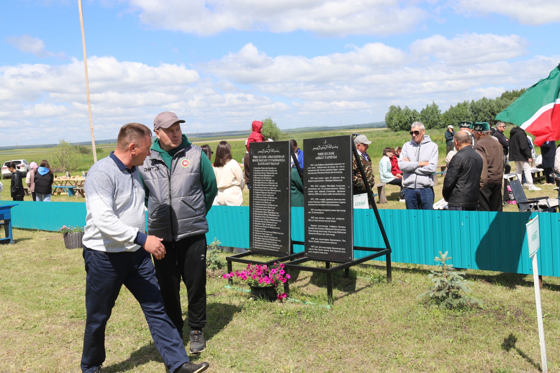
<path fill-rule="evenodd" d="M 217 333 L 219 333 L 223 328 L 226 327 L 228 323 L 231 322 L 234 315 L 239 311 L 241 311 L 241 308 L 236 305 L 224 303 L 209 303 L 206 306 L 208 324 L 206 328 L 204 328 L 204 339 L 208 341 Z M 185 323 L 185 337 L 189 335 L 189 332 L 189 325 Z M 184 341 L 184 343 L 185 347 L 188 348 L 188 342 Z M 201 357 L 196 355 L 189 355 L 189 358 L 191 361 L 197 361 Z M 130 357 L 127 360 L 105 367 L 104 371 L 108 373 L 124 372 L 133 369 L 134 367 L 144 365 L 145 363 L 150 361 L 159 361 L 163 364 L 160 353 L 157 352 L 156 346 L 152 342 L 131 353 Z"/>

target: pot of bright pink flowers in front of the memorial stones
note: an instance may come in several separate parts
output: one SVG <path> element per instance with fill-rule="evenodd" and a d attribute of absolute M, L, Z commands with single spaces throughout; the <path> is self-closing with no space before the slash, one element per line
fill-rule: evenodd
<path fill-rule="evenodd" d="M 222 277 L 226 279 L 239 277 L 247 282 L 254 299 L 274 301 L 287 297 L 284 287 L 280 285 L 286 284 L 290 275 L 284 271 L 283 263 L 274 263 L 271 267 L 249 263 L 246 270 L 224 273 Z"/>

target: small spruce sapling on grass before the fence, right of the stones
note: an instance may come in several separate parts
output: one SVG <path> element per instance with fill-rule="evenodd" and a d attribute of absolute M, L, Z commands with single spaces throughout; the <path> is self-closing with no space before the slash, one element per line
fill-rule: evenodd
<path fill-rule="evenodd" d="M 466 281 L 463 276 L 464 272 L 450 271 L 449 267 L 452 264 L 446 262 L 451 259 L 447 257 L 447 251 L 440 257 L 434 258 L 441 266 L 439 271 L 430 271 L 428 277 L 433 282 L 427 292 L 418 295 L 418 298 L 424 299 L 427 302 L 432 301 L 440 306 L 440 308 L 454 309 L 454 308 L 467 308 L 472 306 L 480 306 L 481 302 L 478 299 L 470 298 L 463 295 L 463 292 L 470 292 Z"/>

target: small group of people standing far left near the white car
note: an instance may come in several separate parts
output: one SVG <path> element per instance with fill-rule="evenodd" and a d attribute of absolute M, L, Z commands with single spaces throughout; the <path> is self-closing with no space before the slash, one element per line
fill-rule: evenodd
<path fill-rule="evenodd" d="M 40 165 L 36 162 L 29 164 L 29 171 L 24 174 L 17 169 L 14 162 L 7 165 L 8 171 L 12 173 L 10 181 L 10 196 L 14 201 L 23 201 L 25 197 L 24 180 L 29 188 L 31 197 L 34 201 L 50 202 L 52 186 L 54 181 L 53 171 L 50 169 L 48 160 L 41 160 Z"/>

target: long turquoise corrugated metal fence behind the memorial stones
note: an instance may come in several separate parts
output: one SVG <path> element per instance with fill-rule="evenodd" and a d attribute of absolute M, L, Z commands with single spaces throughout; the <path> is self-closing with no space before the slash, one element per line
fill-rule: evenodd
<path fill-rule="evenodd" d="M 0 201 L 8 203 L 11 201 Z M 62 225 L 84 225 L 83 202 L 18 202 L 12 209 L 16 228 L 57 230 Z M 379 210 L 391 243 L 391 260 L 434 265 L 439 251 L 449 251 L 455 267 L 533 273 L 525 223 L 537 213 L 484 211 Z M 538 253 L 539 273 L 560 277 L 560 214 L 542 213 Z M 249 247 L 249 207 L 213 206 L 208 213 L 207 240 Z M 292 239 L 304 240 L 304 209 L 292 207 Z M 383 247 L 372 210 L 354 210 L 354 245 Z M 296 245 L 296 251 L 303 247 Z M 366 252 L 356 251 L 355 256 Z M 381 262 L 385 257 L 379 258 Z"/>

